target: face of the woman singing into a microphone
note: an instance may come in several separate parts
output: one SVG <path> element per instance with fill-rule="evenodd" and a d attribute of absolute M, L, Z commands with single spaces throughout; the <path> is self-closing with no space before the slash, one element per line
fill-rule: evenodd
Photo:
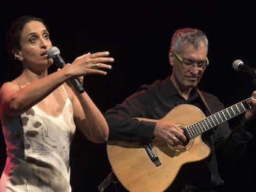
<path fill-rule="evenodd" d="M 53 59 L 48 58 L 47 54 L 52 43 L 43 23 L 32 20 L 25 24 L 20 35 L 20 45 L 21 49 L 17 50 L 15 57 L 22 61 L 24 68 L 40 71 L 53 64 Z"/>

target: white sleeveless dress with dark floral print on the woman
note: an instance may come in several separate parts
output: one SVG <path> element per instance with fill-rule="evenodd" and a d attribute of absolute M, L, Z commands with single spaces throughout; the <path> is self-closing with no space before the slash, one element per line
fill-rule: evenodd
<path fill-rule="evenodd" d="M 33 106 L 4 118 L 7 159 L 0 191 L 71 191 L 69 151 L 75 123 L 70 99 L 58 117 Z"/>

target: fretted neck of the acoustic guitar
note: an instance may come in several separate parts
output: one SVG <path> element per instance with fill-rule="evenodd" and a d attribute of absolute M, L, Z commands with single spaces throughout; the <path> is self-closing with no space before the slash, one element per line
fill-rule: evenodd
<path fill-rule="evenodd" d="M 240 115 L 247 111 L 247 109 L 250 109 L 251 106 L 249 104 L 249 101 L 252 98 L 255 99 L 255 97 L 256 96 L 245 99 L 244 101 L 238 102 L 233 106 L 216 112 L 215 114 L 212 114 L 203 120 L 187 126 L 186 128 L 184 128 L 184 134 L 191 139 L 207 130 L 210 130 L 213 127 L 216 127 L 217 125 L 220 125 L 221 123 L 233 119 L 237 115 Z"/>

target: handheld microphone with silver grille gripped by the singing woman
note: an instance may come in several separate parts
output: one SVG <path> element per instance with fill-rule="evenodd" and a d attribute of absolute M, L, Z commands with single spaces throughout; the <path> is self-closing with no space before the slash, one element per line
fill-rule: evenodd
<path fill-rule="evenodd" d="M 58 48 L 56 47 L 51 47 L 48 49 L 48 56 L 51 57 L 54 61 L 54 63 L 62 69 L 66 65 L 66 62 L 64 59 L 61 57 L 61 52 L 59 51 Z M 75 90 L 79 91 L 79 93 L 83 93 L 85 91 L 83 89 L 83 85 L 80 83 L 80 80 L 78 78 L 71 78 L 69 80 L 70 84 L 75 88 Z"/>

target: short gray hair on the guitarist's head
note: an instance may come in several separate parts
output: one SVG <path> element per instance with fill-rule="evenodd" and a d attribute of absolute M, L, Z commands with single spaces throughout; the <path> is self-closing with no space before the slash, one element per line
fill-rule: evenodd
<path fill-rule="evenodd" d="M 176 30 L 171 39 L 171 49 L 179 52 L 182 44 L 189 43 L 195 49 L 200 48 L 201 43 L 205 45 L 208 51 L 208 39 L 203 31 L 195 28 L 181 28 Z"/>

